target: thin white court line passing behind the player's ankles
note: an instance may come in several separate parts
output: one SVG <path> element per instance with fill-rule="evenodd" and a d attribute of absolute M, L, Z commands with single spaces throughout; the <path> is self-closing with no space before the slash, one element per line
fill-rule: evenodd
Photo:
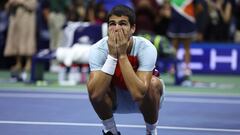
<path fill-rule="evenodd" d="M 102 124 L 99 124 L 99 123 L 40 122 L 40 121 L 0 121 L 0 124 L 102 127 Z M 122 127 L 122 128 L 145 128 L 145 125 L 117 124 L 117 127 Z M 176 127 L 176 126 L 157 126 L 157 128 L 158 129 L 171 129 L 171 130 L 240 133 L 240 129 L 193 128 L 193 127 Z"/>

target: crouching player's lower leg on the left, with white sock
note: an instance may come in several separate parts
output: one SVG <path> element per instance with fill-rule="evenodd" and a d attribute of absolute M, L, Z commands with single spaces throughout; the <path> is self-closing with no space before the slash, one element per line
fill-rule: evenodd
<path fill-rule="evenodd" d="M 104 132 L 110 131 L 112 134 L 117 135 L 117 127 L 114 121 L 112 108 L 115 104 L 115 92 L 108 89 L 108 92 L 104 96 L 102 100 L 92 99 L 91 95 L 89 95 L 90 102 L 97 113 L 98 117 L 102 120 L 104 126 Z"/>

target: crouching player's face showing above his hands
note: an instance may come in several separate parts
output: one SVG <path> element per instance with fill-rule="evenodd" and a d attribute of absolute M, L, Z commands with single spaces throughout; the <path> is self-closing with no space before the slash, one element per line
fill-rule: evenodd
<path fill-rule="evenodd" d="M 128 35 L 128 37 L 131 37 L 135 31 L 135 26 L 131 27 L 127 16 L 111 16 L 108 22 L 108 32 L 110 30 L 117 32 L 121 29 Z"/>

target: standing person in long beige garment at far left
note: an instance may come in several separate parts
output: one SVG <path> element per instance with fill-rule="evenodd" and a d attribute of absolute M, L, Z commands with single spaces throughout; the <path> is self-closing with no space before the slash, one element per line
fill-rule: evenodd
<path fill-rule="evenodd" d="M 10 20 L 4 55 L 16 57 L 12 75 L 26 81 L 27 72 L 31 69 L 31 56 L 36 51 L 37 0 L 8 0 L 5 6 Z M 26 58 L 25 65 L 23 58 Z"/>

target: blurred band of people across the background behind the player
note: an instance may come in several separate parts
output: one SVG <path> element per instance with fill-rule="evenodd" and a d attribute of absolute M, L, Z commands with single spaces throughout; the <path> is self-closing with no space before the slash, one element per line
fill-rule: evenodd
<path fill-rule="evenodd" d="M 118 4 L 134 8 L 136 34 L 163 35 L 173 39 L 177 46 L 180 41 L 174 40 L 178 37 L 173 33 L 192 28 L 191 36 L 180 33 L 186 39 L 183 43 L 240 42 L 240 0 L 1 0 L 1 55 L 16 58 L 13 73 L 29 72 L 31 56 L 39 48 L 59 46 L 67 22 L 102 24 L 108 11 Z M 179 19 L 176 11 L 191 23 L 185 24 L 180 18 L 178 22 L 182 24 L 176 24 Z M 186 29 L 180 27 L 178 31 L 178 25 L 185 25 Z M 49 37 L 46 47 L 40 45 L 44 37 Z"/>

